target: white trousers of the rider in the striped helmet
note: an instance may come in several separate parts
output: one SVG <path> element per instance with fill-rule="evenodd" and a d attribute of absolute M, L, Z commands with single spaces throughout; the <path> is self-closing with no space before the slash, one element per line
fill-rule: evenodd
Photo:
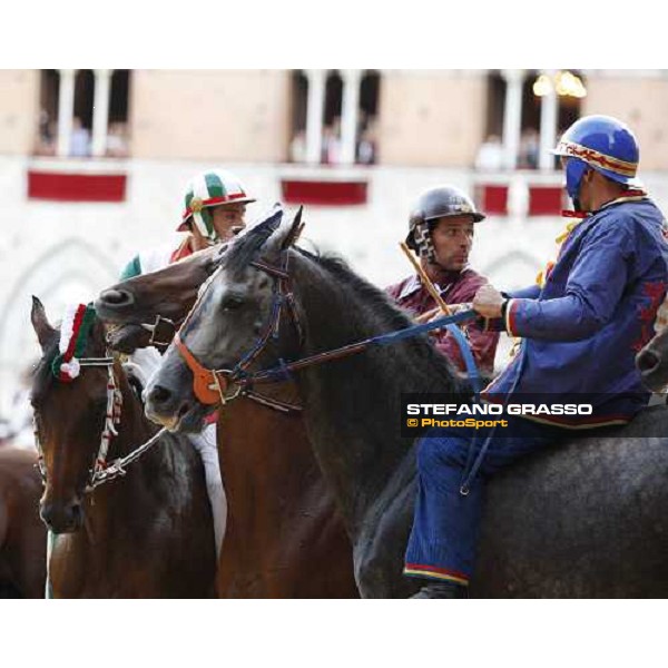
<path fill-rule="evenodd" d="M 138 348 L 125 364 L 126 371 L 134 375 L 143 387 L 146 387 L 150 377 L 160 366 L 161 356 L 155 347 Z M 220 464 L 218 462 L 218 445 L 216 442 L 216 425 L 209 424 L 198 434 L 187 434 L 193 448 L 199 453 L 204 464 L 206 491 L 212 514 L 214 517 L 214 538 L 216 554 L 220 556 L 225 525 L 227 523 L 227 497 L 223 488 Z"/>

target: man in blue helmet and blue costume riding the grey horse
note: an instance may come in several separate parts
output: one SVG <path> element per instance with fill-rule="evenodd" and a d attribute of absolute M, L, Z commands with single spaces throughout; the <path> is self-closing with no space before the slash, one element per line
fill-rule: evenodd
<path fill-rule="evenodd" d="M 475 293 L 473 308 L 490 326 L 521 337 L 519 353 L 481 397 L 582 402 L 591 410 L 572 418 L 523 413 L 509 416 L 505 429 L 450 426 L 420 440 L 404 567 L 424 580 L 416 598 L 465 595 L 485 479 L 580 430 L 625 424 L 649 401 L 635 356 L 654 335 L 666 296 L 668 245 L 661 212 L 635 180 L 638 143 L 619 120 L 588 116 L 553 153 L 562 157 L 577 222 L 542 285 L 502 293 L 488 284 Z"/>

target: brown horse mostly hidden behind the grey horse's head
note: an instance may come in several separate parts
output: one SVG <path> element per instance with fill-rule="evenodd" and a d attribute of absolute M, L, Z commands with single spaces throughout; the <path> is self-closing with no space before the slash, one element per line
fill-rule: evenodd
<path fill-rule="evenodd" d="M 99 296 L 106 321 L 130 325 L 115 345 L 146 345 L 140 323 L 181 321 L 224 249 L 118 284 Z M 295 402 L 285 383 L 274 399 Z M 218 413 L 218 453 L 228 502 L 218 564 L 220 596 L 357 597 L 352 547 L 313 455 L 301 414 L 239 399 Z"/>

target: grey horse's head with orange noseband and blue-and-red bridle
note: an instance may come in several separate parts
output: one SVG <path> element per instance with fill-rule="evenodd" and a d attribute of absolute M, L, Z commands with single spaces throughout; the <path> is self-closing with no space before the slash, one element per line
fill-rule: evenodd
<path fill-rule="evenodd" d="M 284 333 L 286 310 L 277 289 L 285 275 L 288 248 L 301 229 L 301 209 L 292 224 L 282 225 L 275 206 L 264 220 L 238 237 L 202 286 L 195 306 L 181 325 L 178 343 L 165 354 L 146 391 L 147 415 L 173 430 L 197 431 L 205 415 L 226 401 L 225 375 L 244 364 L 250 370 L 267 358 L 288 356 L 294 338 Z M 281 328 L 281 337 L 274 335 Z M 246 365 L 247 364 L 247 365 Z M 223 370 L 210 400 L 196 393 L 198 371 Z M 194 371 L 196 372 L 194 374 Z"/>

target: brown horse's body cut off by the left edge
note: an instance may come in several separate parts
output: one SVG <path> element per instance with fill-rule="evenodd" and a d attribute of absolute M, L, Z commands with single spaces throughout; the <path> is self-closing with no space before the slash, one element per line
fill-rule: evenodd
<path fill-rule="evenodd" d="M 0 598 L 45 596 L 47 529 L 36 464 L 35 452 L 0 448 Z"/>

